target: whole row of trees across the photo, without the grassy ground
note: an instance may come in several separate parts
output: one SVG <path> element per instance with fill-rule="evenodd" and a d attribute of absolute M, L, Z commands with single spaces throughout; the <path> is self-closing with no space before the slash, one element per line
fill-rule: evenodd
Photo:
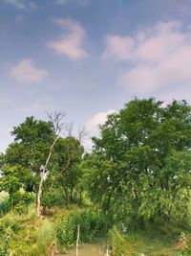
<path fill-rule="evenodd" d="M 124 229 L 188 223 L 190 105 L 130 101 L 108 116 L 91 153 L 73 135 L 61 136 L 63 116 L 54 114 L 48 122 L 27 117 L 11 131 L 14 140 L 0 159 L 0 190 L 9 193 L 11 211 L 22 214 L 32 201 L 40 203 L 40 214 L 76 203 Z"/>

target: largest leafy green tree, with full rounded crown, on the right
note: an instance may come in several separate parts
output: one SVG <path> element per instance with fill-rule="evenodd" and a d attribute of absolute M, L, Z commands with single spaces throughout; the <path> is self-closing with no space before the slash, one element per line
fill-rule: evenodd
<path fill-rule="evenodd" d="M 93 200 L 121 221 L 168 221 L 190 192 L 190 131 L 185 101 L 135 99 L 109 115 L 86 160 Z"/>

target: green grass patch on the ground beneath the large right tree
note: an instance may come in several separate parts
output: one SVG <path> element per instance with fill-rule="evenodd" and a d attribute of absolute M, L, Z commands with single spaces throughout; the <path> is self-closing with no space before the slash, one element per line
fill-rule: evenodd
<path fill-rule="evenodd" d="M 179 242 L 180 232 L 185 233 L 186 244 Z M 138 230 L 123 235 L 125 239 L 122 246 L 125 247 L 123 254 L 114 256 L 139 256 L 141 253 L 145 256 L 190 256 L 191 251 L 186 249 L 186 245 L 191 244 L 191 230 L 173 225 L 168 227 L 150 227 L 149 230 Z M 121 240 L 121 238 L 120 238 Z"/>

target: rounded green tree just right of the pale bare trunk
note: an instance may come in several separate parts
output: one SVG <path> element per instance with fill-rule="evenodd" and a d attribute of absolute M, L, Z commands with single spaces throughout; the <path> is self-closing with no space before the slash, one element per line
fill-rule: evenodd
<path fill-rule="evenodd" d="M 53 172 L 48 176 L 44 191 L 45 205 L 50 206 L 52 203 L 56 203 L 60 197 L 65 198 L 67 204 L 73 202 L 74 188 L 81 175 L 78 164 L 81 162 L 83 151 L 78 139 L 73 136 L 57 140 L 53 154 Z M 52 198 L 54 199 L 52 200 Z"/>

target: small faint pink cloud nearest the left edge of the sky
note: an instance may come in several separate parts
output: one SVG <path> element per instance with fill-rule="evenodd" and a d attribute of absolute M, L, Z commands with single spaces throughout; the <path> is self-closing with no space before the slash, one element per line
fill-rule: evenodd
<path fill-rule="evenodd" d="M 48 72 L 45 69 L 35 67 L 32 59 L 23 59 L 11 68 L 11 77 L 19 83 L 34 83 L 43 81 Z"/>

